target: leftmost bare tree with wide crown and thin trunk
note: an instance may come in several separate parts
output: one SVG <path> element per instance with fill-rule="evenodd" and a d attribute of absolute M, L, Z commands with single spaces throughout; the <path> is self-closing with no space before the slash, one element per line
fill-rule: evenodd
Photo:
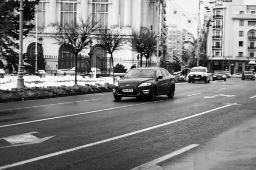
<path fill-rule="evenodd" d="M 75 55 L 75 84 L 77 84 L 78 55 L 89 47 L 93 40 L 93 33 L 97 29 L 96 25 L 99 23 L 94 22 L 91 16 L 86 21 L 81 18 L 79 21 L 79 23 L 76 21 L 66 22 L 65 26 L 57 23 L 51 36 L 55 40 L 55 44 L 68 47 Z"/>

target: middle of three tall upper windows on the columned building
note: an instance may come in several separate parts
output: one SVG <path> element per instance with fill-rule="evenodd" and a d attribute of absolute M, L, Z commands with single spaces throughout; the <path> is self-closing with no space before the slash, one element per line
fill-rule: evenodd
<path fill-rule="evenodd" d="M 61 27 L 76 22 L 76 0 L 61 2 Z"/>

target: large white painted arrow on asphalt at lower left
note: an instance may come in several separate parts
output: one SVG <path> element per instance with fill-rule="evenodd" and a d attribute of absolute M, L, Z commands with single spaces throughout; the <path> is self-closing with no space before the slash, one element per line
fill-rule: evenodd
<path fill-rule="evenodd" d="M 33 133 L 38 133 L 38 132 L 23 133 L 23 134 L 19 134 L 19 135 L 0 138 L 0 140 L 6 140 L 7 142 L 9 142 L 11 144 L 9 146 L 4 146 L 4 147 L 0 146 L 0 148 L 22 146 L 22 145 L 27 145 L 27 144 L 38 144 L 38 143 L 44 142 L 44 141 L 54 137 L 54 136 L 49 136 L 46 138 L 39 139 L 39 138 L 33 136 L 32 135 Z"/>

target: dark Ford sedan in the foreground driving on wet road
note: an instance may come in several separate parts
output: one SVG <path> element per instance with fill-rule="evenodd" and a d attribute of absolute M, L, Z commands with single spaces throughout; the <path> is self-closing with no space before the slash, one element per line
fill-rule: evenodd
<path fill-rule="evenodd" d="M 155 100 L 156 96 L 167 94 L 172 98 L 175 92 L 175 77 L 164 68 L 133 68 L 113 85 L 116 100 L 122 97 L 145 97 Z"/>

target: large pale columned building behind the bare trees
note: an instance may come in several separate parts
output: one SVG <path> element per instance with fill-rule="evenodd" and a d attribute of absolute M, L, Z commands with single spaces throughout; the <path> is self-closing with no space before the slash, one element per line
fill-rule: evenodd
<path fill-rule="evenodd" d="M 160 13 L 159 13 L 160 7 Z M 87 20 L 92 15 L 99 25 L 105 28 L 113 26 L 119 27 L 127 36 L 131 31 L 139 30 L 140 26 L 150 30 L 158 30 L 160 24 L 160 50 L 162 57 L 165 55 L 166 47 L 166 0 L 41 0 L 36 7 L 38 13 L 38 51 L 44 55 L 73 57 L 68 48 L 54 44 L 51 38 L 52 26 L 60 23 L 65 27 L 66 22 L 72 20 L 79 21 L 80 18 Z M 158 14 L 160 16 L 158 17 Z M 160 20 L 158 20 L 160 18 Z M 158 22 L 159 21 L 159 22 Z M 32 21 L 34 24 L 36 21 Z M 23 51 L 29 55 L 35 55 L 35 29 L 23 40 Z M 88 54 L 90 49 L 82 54 Z M 107 54 L 99 47 L 96 41 L 92 45 L 92 67 L 97 67 L 96 58 L 106 57 Z M 116 58 L 136 59 L 137 54 L 131 51 L 131 47 L 126 45 L 121 51 L 114 54 Z M 143 57 L 143 59 L 145 59 Z M 151 57 L 151 61 L 156 62 L 156 56 Z M 73 68 L 74 65 L 70 65 Z M 49 69 L 56 69 L 49 68 Z M 58 68 L 61 69 L 61 68 Z"/>

